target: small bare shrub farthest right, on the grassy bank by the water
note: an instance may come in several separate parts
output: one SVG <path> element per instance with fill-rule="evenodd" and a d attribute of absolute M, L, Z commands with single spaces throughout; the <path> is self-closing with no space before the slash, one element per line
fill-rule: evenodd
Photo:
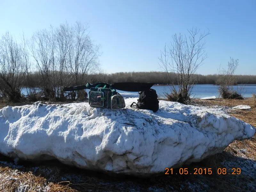
<path fill-rule="evenodd" d="M 238 66 L 238 59 L 234 60 L 230 57 L 228 61 L 228 69 L 219 70 L 219 92 L 223 99 L 244 99 L 239 91 L 233 89 L 233 85 L 236 84 L 236 76 L 234 73 Z"/>

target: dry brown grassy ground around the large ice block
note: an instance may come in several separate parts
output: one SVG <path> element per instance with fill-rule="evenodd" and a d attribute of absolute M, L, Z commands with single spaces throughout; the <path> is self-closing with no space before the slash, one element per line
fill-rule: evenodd
<path fill-rule="evenodd" d="M 32 103 L 2 102 L 0 108 L 7 105 L 25 104 Z M 204 105 L 209 108 L 249 105 L 252 107 L 251 110 L 241 110 L 236 113 L 227 107 L 223 109 L 230 115 L 256 127 L 255 98 L 213 101 L 195 99 L 192 104 Z M 184 174 L 185 170 L 188 170 L 188 174 Z M 210 171 L 212 174 L 209 174 Z M 181 174 L 182 172 L 183 174 Z M 221 154 L 211 156 L 200 163 L 173 170 L 173 174 L 170 170 L 168 173 L 165 174 L 163 170 L 163 175 L 155 178 L 110 177 L 100 172 L 95 173 L 68 167 L 58 161 L 40 164 L 16 162 L 0 155 L 0 191 L 6 192 L 256 191 L 256 135 L 250 140 L 234 141 Z"/>

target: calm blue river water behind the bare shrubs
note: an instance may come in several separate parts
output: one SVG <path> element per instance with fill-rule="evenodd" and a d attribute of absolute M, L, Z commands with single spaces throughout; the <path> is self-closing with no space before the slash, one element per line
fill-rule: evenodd
<path fill-rule="evenodd" d="M 156 90 L 156 93 L 159 95 L 160 98 L 164 98 L 164 92 L 170 93 L 171 86 L 169 85 L 154 85 L 152 86 L 152 89 Z M 242 96 L 244 97 L 252 97 L 252 93 L 256 94 L 256 84 L 251 84 L 250 86 L 233 86 L 235 90 L 241 90 L 242 89 Z M 125 91 L 116 90 L 119 93 L 123 93 Z M 86 89 L 86 92 L 89 93 L 89 90 Z M 22 88 L 21 93 L 26 95 L 26 87 Z M 138 93 L 138 92 L 129 92 L 129 93 Z M 192 90 L 192 97 L 194 98 L 202 98 L 202 97 L 210 97 L 210 96 L 216 96 L 220 97 L 220 94 L 218 92 L 218 85 L 212 85 L 212 84 L 197 84 Z"/>

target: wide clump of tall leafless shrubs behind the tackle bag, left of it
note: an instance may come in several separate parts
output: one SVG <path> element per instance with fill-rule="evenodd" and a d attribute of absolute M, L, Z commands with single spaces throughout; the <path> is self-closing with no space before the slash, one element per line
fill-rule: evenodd
<path fill-rule="evenodd" d="M 98 70 L 99 46 L 93 44 L 87 29 L 78 22 L 75 26 L 65 23 L 34 34 L 30 49 L 45 100 L 65 100 L 62 86 L 86 84 Z"/>

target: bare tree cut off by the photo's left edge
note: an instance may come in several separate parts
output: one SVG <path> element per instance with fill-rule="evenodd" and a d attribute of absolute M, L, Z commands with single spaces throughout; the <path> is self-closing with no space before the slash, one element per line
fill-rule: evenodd
<path fill-rule="evenodd" d="M 0 41 L 0 91 L 10 101 L 20 101 L 24 63 L 20 45 L 7 32 Z"/>

